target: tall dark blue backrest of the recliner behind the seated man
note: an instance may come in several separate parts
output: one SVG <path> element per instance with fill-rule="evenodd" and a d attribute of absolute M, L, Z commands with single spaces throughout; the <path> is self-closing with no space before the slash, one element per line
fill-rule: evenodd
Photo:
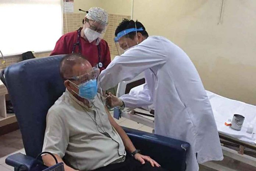
<path fill-rule="evenodd" d="M 47 111 L 65 91 L 59 71 L 63 56 L 25 60 L 4 70 L 25 151 L 32 157 L 42 151 Z"/>

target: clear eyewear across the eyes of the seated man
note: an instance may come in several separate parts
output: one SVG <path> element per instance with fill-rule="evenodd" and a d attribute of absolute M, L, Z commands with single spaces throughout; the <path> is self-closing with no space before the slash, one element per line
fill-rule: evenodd
<path fill-rule="evenodd" d="M 92 71 L 89 73 L 79 75 L 79 76 L 72 76 L 70 78 L 65 78 L 66 80 L 70 81 L 77 81 L 79 83 L 85 83 L 91 79 L 96 79 L 99 76 L 99 69 L 98 68 L 92 68 Z"/>

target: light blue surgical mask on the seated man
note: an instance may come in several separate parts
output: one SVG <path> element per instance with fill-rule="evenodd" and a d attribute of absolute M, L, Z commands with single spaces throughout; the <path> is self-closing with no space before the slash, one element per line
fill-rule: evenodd
<path fill-rule="evenodd" d="M 71 81 L 70 81 L 71 82 Z M 71 82 L 73 83 L 73 82 Z M 73 83 L 75 85 L 75 83 Z M 97 94 L 97 81 L 96 79 L 91 79 L 85 83 L 75 85 L 79 89 L 79 94 L 76 94 L 87 100 L 93 100 Z"/>

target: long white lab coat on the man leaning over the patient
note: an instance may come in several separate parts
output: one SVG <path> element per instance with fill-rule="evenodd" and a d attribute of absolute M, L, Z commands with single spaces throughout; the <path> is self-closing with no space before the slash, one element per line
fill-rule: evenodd
<path fill-rule="evenodd" d="M 198 163 L 222 160 L 216 123 L 199 74 L 186 53 L 170 40 L 148 37 L 115 57 L 98 83 L 107 90 L 143 71 L 146 83 L 142 92 L 121 96 L 125 106 L 154 105 L 155 133 L 190 143 L 187 171 L 198 171 Z"/>

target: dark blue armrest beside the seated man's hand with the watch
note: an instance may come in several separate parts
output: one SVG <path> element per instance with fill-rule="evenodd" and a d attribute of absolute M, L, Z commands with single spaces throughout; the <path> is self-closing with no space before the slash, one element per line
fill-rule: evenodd
<path fill-rule="evenodd" d="M 142 154 L 152 157 L 167 170 L 185 171 L 189 143 L 131 128 L 123 129 Z"/>

